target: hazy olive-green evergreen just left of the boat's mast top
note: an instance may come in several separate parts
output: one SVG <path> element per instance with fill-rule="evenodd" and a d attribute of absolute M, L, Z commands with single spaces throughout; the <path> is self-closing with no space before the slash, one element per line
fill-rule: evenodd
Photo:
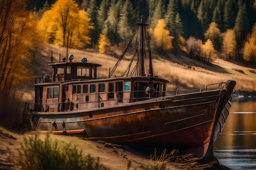
<path fill-rule="evenodd" d="M 135 11 L 130 0 L 126 0 L 121 9 L 121 16 L 118 23 L 118 33 L 121 38 L 129 40 L 133 31 L 135 30 Z"/>

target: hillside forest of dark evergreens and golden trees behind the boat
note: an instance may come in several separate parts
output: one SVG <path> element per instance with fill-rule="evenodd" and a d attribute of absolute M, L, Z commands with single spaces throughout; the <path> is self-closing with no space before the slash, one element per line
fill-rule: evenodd
<path fill-rule="evenodd" d="M 64 6 L 69 1 L 58 0 Z M 57 13 L 54 4 L 58 2 L 31 0 L 28 9 L 37 12 L 40 20 L 48 20 L 52 14 L 47 17 L 47 11 Z M 69 33 L 74 28 L 67 26 L 64 35 L 53 34 L 50 27 L 54 24 L 50 24 L 50 43 L 66 46 L 65 36 L 69 36 L 73 40 L 70 47 L 97 46 L 104 53 L 110 45 L 126 44 L 143 15 L 152 30 L 153 48 L 159 52 L 177 55 L 186 51 L 208 62 L 216 58 L 217 51 L 226 60 L 246 64 L 256 60 L 256 0 L 76 0 L 76 5 L 86 11 L 89 20 L 83 28 L 88 35 L 83 34 L 85 37 L 76 42 L 77 35 Z M 82 26 L 75 22 L 74 27 Z"/>

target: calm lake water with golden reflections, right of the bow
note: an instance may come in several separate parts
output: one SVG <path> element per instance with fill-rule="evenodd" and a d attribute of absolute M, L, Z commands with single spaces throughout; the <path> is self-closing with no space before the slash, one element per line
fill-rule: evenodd
<path fill-rule="evenodd" d="M 256 100 L 231 103 L 225 127 L 214 143 L 214 155 L 232 170 L 256 170 Z"/>

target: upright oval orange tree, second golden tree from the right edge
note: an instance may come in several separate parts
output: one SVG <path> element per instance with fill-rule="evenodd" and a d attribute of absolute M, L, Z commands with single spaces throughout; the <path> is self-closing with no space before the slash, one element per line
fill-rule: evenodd
<path fill-rule="evenodd" d="M 223 37 L 222 54 L 227 60 L 234 59 L 236 55 L 236 36 L 232 29 L 228 29 Z"/>

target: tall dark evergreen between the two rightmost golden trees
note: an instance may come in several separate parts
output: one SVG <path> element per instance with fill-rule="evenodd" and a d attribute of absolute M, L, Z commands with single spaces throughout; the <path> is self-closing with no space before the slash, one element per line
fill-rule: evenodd
<path fill-rule="evenodd" d="M 248 18 L 246 13 L 246 5 L 243 4 L 240 7 L 234 26 L 234 33 L 236 35 L 236 43 L 238 45 L 238 56 L 240 56 L 240 49 L 242 49 L 242 43 L 248 33 Z M 237 60 L 237 58 L 236 58 Z"/>

